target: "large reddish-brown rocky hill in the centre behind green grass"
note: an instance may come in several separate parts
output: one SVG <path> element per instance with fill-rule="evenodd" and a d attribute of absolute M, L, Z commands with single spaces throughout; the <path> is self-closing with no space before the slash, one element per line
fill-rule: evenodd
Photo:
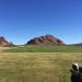
<path fill-rule="evenodd" d="M 52 35 L 35 37 L 27 42 L 26 45 L 63 45 L 63 42 Z"/>

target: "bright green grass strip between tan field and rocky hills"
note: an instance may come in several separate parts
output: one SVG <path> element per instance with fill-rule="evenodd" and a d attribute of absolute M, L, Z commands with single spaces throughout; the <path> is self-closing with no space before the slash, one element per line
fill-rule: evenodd
<path fill-rule="evenodd" d="M 33 46 L 16 47 L 5 50 L 8 52 L 82 52 L 82 46 Z"/>

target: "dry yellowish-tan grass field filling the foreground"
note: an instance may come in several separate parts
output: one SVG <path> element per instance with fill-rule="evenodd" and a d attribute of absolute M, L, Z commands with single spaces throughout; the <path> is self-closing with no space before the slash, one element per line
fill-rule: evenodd
<path fill-rule="evenodd" d="M 70 82 L 82 52 L 0 52 L 0 82 Z"/>

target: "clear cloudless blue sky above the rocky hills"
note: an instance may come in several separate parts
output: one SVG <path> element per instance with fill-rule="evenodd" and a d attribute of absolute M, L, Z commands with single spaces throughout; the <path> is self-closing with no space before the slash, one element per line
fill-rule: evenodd
<path fill-rule="evenodd" d="M 0 36 L 25 44 L 46 34 L 82 43 L 82 0 L 0 0 Z"/>

